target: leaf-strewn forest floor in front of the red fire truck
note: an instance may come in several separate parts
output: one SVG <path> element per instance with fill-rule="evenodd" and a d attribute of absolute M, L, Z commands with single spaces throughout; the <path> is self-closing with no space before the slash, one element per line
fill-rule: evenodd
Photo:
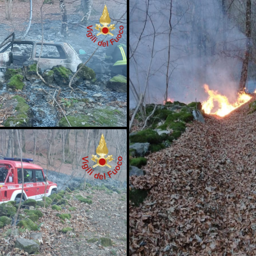
<path fill-rule="evenodd" d="M 86 197 L 92 196 L 92 204 L 85 204 L 76 199 L 77 195 Z M 41 223 L 40 232 L 42 233 L 42 242 L 40 245 L 40 256 L 109 256 L 127 255 L 126 250 L 126 221 L 127 207 L 126 194 L 106 194 L 104 191 L 89 189 L 86 191 L 73 191 L 71 199 L 60 212 L 51 209 L 39 208 L 44 214 L 38 220 Z M 71 211 L 69 207 L 76 207 Z M 23 209 L 21 209 L 23 212 Z M 57 213 L 70 213 L 70 220 L 65 219 L 61 223 Z M 73 231 L 62 233 L 64 227 L 71 227 Z M 22 250 L 15 249 L 15 237 L 4 236 L 4 232 L 10 228 L 10 225 L 0 230 L 0 255 L 25 256 Z M 29 239 L 29 234 L 39 231 L 24 231 L 20 233 L 20 238 Z M 89 239 L 100 239 L 102 237 L 112 240 L 110 247 L 102 246 L 98 241 L 88 242 Z M 28 255 L 28 254 L 26 254 Z"/>

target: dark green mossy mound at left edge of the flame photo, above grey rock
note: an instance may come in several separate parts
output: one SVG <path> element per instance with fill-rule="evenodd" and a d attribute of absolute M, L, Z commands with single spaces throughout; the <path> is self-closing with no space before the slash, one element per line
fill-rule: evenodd
<path fill-rule="evenodd" d="M 135 134 L 130 134 L 130 140 L 131 142 L 139 142 L 139 143 L 161 143 L 161 138 L 159 134 L 156 131 L 153 131 L 151 129 L 146 129 L 143 131 L 139 131 Z"/>

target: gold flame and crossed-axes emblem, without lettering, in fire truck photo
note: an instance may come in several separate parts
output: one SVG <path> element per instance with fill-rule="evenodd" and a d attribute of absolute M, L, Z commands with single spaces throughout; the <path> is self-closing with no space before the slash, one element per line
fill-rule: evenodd
<path fill-rule="evenodd" d="M 96 149 L 96 154 L 98 154 L 100 157 L 97 157 L 97 155 L 92 155 L 93 158 L 91 158 L 91 160 L 93 160 L 93 162 L 96 162 L 97 160 L 97 164 L 94 165 L 93 168 L 96 166 L 108 166 L 109 168 L 111 168 L 108 162 L 111 162 L 113 160 L 113 155 L 108 155 L 108 157 L 105 158 L 105 155 L 108 154 L 108 148 L 103 134 L 99 140 L 99 145 Z"/>

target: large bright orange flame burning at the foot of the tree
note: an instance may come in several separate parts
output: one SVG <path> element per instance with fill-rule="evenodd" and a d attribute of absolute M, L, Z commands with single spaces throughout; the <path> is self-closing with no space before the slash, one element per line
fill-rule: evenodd
<path fill-rule="evenodd" d="M 207 114 L 214 114 L 217 116 L 226 116 L 231 111 L 239 108 L 244 103 L 248 102 L 252 97 L 246 93 L 239 93 L 235 103 L 230 104 L 228 98 L 218 93 L 218 91 L 210 90 L 207 84 L 204 84 L 204 90 L 208 93 L 209 97 L 207 101 L 202 103 L 202 109 Z M 212 112 L 215 107 L 214 102 L 218 102 L 218 110 Z"/>

